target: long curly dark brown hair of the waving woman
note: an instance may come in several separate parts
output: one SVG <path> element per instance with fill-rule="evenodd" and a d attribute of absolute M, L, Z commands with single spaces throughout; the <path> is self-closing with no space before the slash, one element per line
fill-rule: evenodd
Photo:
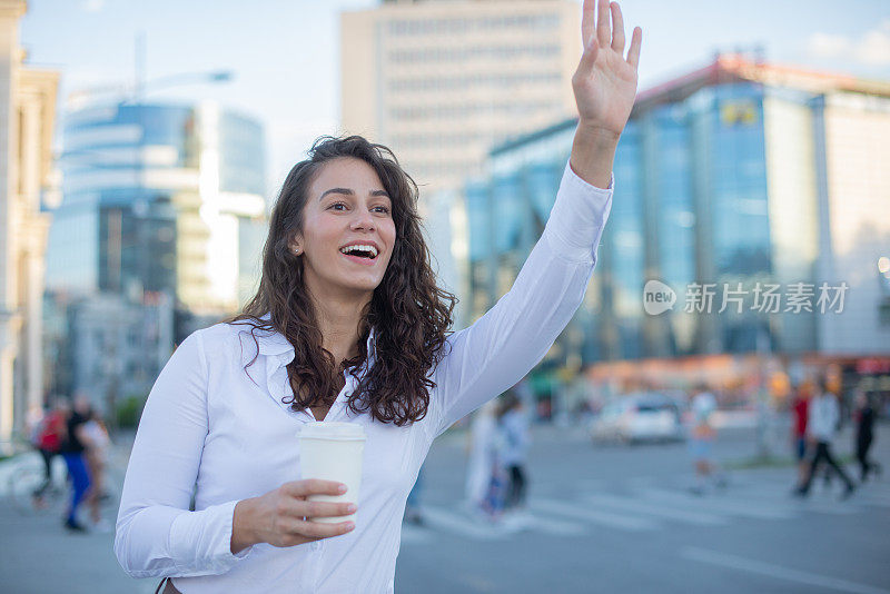
<path fill-rule="evenodd" d="M 326 162 L 342 157 L 362 159 L 377 172 L 392 199 L 397 239 L 383 280 L 363 311 L 358 355 L 337 364 L 323 347 L 304 284 L 303 258 L 289 247 L 303 231 L 309 186 Z M 296 357 L 287 366 L 294 394 L 283 400 L 294 410 L 332 404 L 343 369 L 354 367 L 350 373 L 358 387 L 349 396 L 349 409 L 404 426 L 426 415 L 429 389 L 436 386 L 429 372 L 444 355 L 455 303 L 454 295 L 436 286 L 417 214 L 417 185 L 393 151 L 359 136 L 325 136 L 309 149 L 309 158 L 288 174 L 271 212 L 259 289 L 241 313 L 227 321 L 249 325 L 255 341 L 256 330 L 278 331 L 294 345 Z M 359 377 L 372 328 L 375 362 Z"/>

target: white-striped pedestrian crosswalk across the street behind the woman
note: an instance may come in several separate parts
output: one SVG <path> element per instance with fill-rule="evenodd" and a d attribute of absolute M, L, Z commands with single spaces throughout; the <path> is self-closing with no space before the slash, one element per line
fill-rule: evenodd
<path fill-rule="evenodd" d="M 748 519 L 784 522 L 808 514 L 851 516 L 890 507 L 890 484 L 869 484 L 849 501 L 838 501 L 837 491 L 814 487 L 807 499 L 790 496 L 784 482 L 733 482 L 725 491 L 696 496 L 682 486 L 633 481 L 621 492 L 607 486 L 581 485 L 568 497 L 533 496 L 527 509 L 490 522 L 459 505 L 424 505 L 423 526 L 404 525 L 403 545 L 434 543 L 441 535 L 473 541 L 503 541 L 517 533 L 573 537 L 619 531 L 652 533 L 672 526 L 702 528 L 726 526 Z M 839 488 L 839 487 L 838 487 Z"/>

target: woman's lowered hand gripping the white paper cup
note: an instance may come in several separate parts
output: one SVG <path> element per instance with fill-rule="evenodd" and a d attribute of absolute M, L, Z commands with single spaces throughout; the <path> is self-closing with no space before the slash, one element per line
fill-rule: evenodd
<path fill-rule="evenodd" d="M 334 481 L 293 481 L 259 497 L 238 502 L 231 523 L 231 553 L 257 543 L 294 546 L 346 534 L 353 522 L 323 524 L 313 517 L 346 516 L 352 503 L 310 502 L 310 495 L 342 495 L 346 486 Z"/>

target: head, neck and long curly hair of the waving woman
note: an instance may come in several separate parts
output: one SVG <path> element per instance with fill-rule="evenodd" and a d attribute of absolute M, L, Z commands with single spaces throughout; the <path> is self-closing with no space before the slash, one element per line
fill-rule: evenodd
<path fill-rule="evenodd" d="M 326 410 L 348 369 L 353 412 L 418 420 L 455 299 L 436 286 L 417 187 L 387 148 L 360 137 L 324 137 L 309 154 L 273 210 L 259 290 L 231 321 L 251 333 L 283 328 L 300 345 L 287 366 L 295 412 Z M 373 328 L 377 362 L 359 377 Z"/>

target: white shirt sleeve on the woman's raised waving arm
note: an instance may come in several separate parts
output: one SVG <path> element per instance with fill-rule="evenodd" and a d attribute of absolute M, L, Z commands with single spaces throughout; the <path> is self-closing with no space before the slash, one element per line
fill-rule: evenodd
<path fill-rule="evenodd" d="M 600 189 L 566 165 L 541 239 L 513 288 L 471 327 L 447 339 L 433 374 L 433 437 L 516 384 L 547 353 L 584 297 L 596 263 L 612 186 Z"/>

